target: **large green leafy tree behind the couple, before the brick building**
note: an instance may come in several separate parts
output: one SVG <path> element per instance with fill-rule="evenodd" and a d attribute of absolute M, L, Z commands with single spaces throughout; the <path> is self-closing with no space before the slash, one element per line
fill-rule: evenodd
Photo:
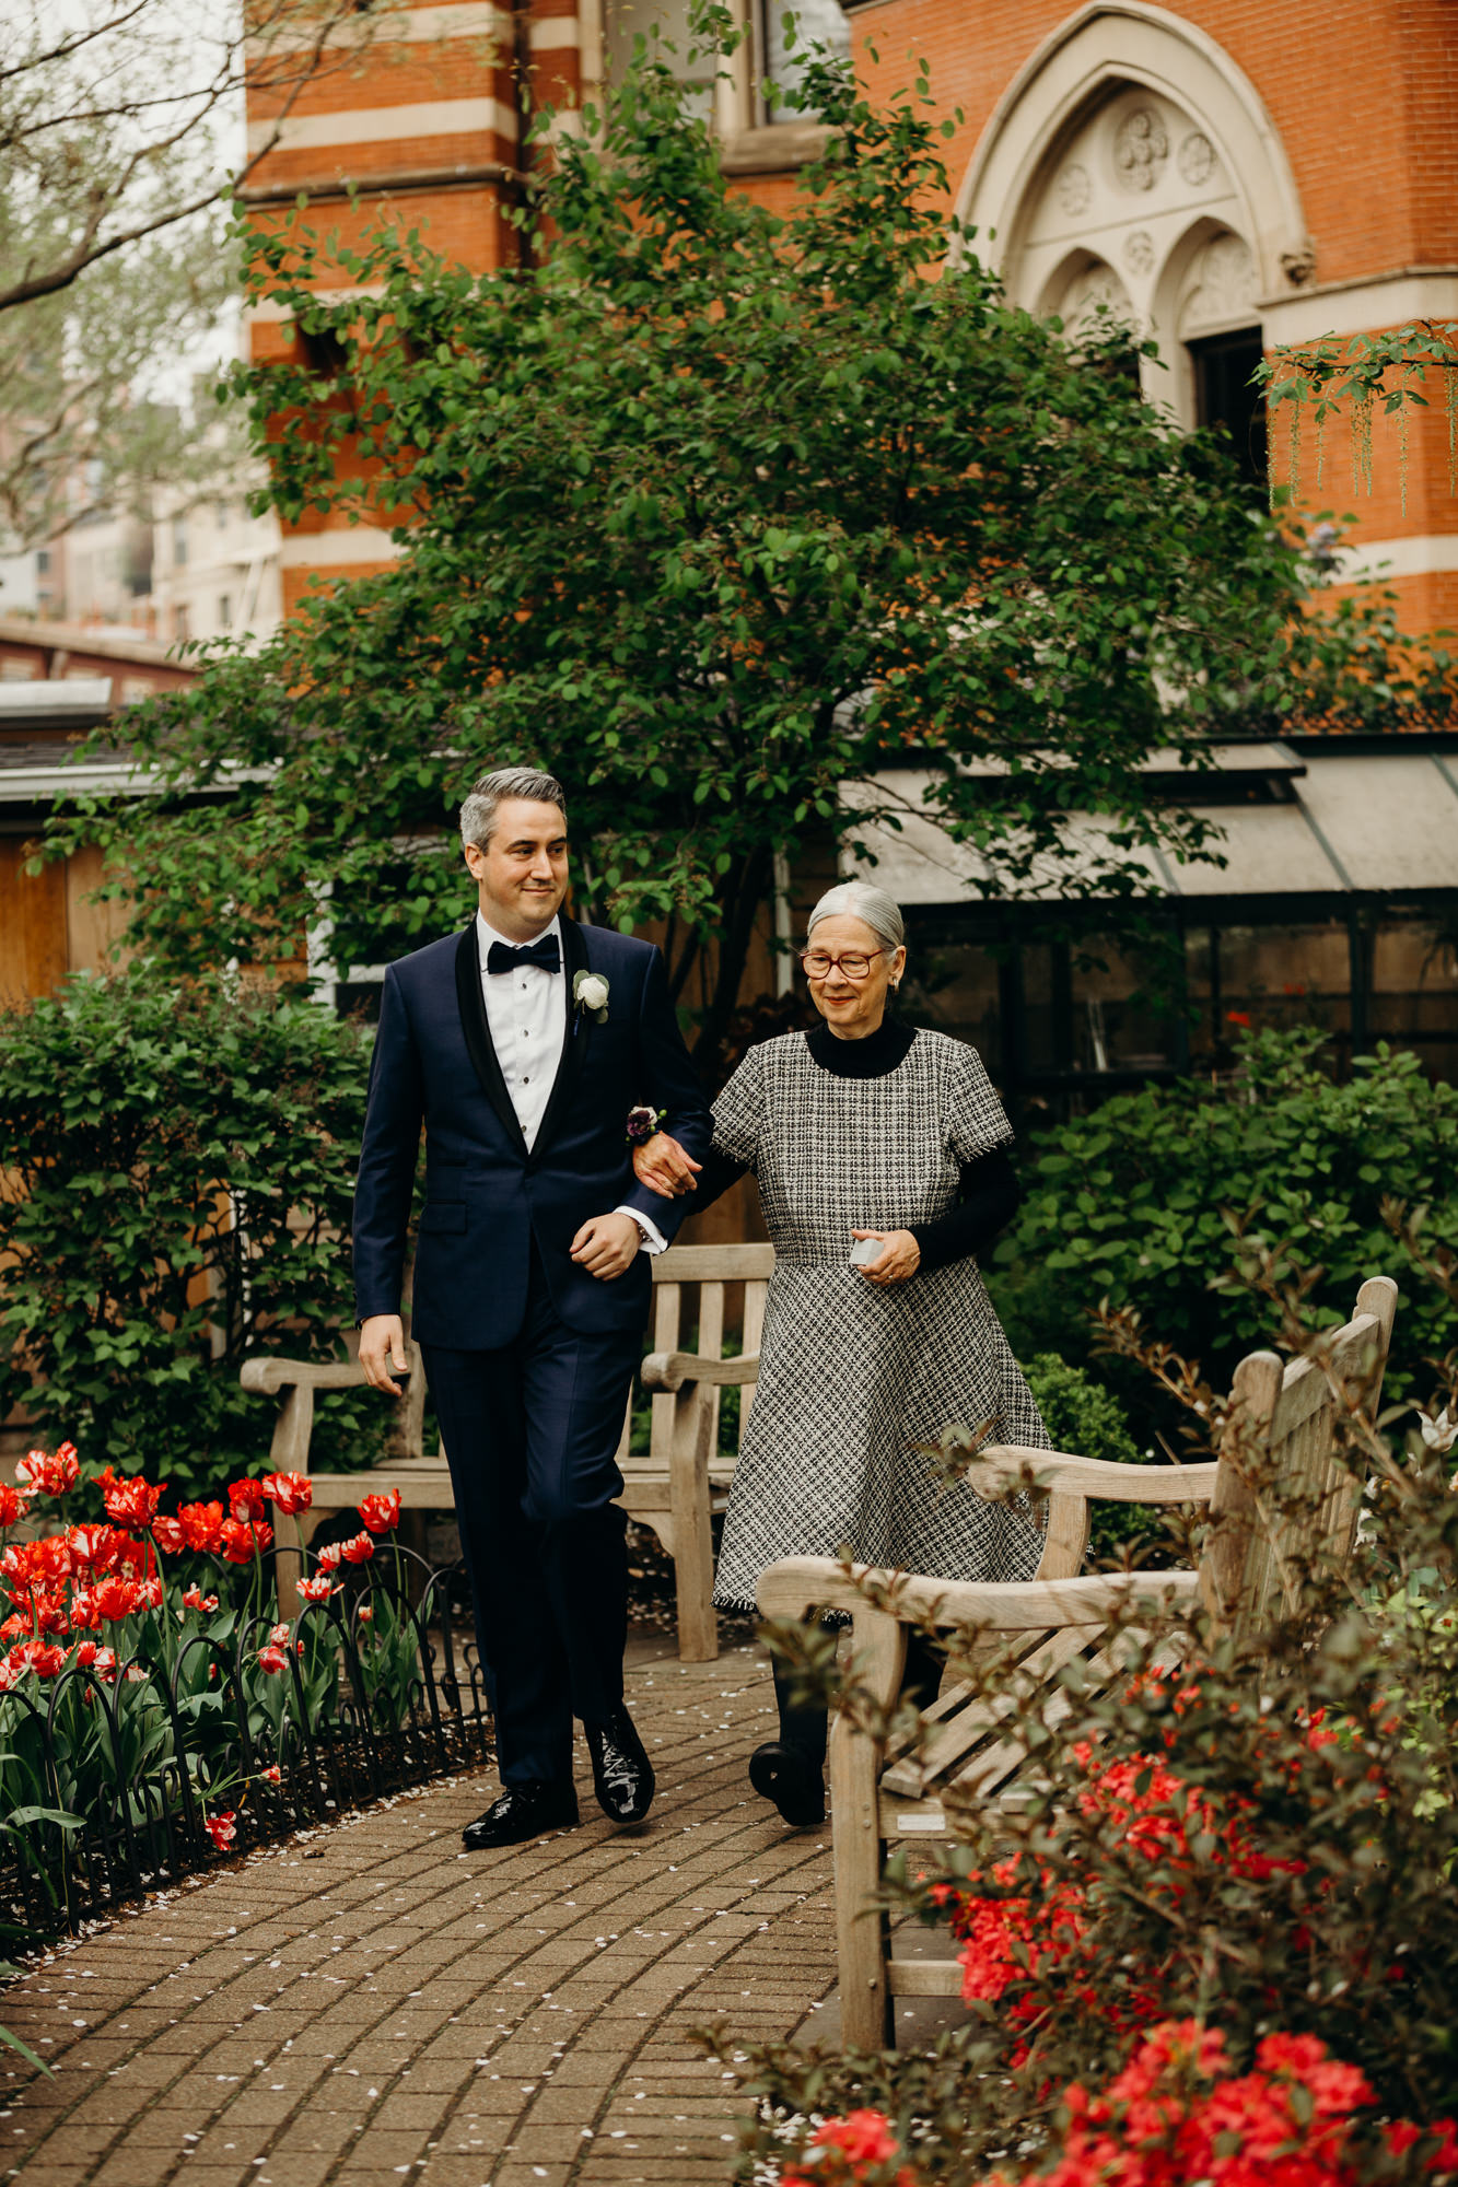
<path fill-rule="evenodd" d="M 1075 354 L 1000 297 L 944 210 L 924 74 L 887 112 L 828 63 L 795 96 L 832 142 L 788 214 L 639 55 L 560 138 L 519 267 L 256 238 L 300 330 L 234 381 L 271 499 L 392 523 L 401 553 L 129 720 L 173 792 L 101 820 L 147 947 L 287 960 L 324 881 L 339 962 L 409 947 L 466 910 L 462 790 L 545 759 L 582 908 L 661 921 L 711 1063 L 775 851 L 887 755 L 926 757 L 992 886 L 1130 897 L 1143 846 L 1206 849 L 1138 765 L 1158 741 L 1197 768 L 1281 704 L 1294 549 L 1138 402 L 1125 337 Z M 263 779 L 188 803 L 228 770 Z M 1101 849 L 1071 849 L 1071 807 Z"/>

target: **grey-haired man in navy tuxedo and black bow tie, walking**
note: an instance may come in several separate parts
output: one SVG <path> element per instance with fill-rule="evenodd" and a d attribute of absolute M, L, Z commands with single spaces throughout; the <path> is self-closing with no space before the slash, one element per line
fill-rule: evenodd
<path fill-rule="evenodd" d="M 486 774 L 460 816 L 479 912 L 385 971 L 355 1185 L 359 1360 L 398 1395 L 401 1275 L 420 1126 L 412 1323 L 451 1465 L 501 1798 L 466 1846 L 578 1820 L 580 1717 L 604 1813 L 641 1822 L 652 1767 L 622 1697 L 615 1450 L 674 1205 L 633 1177 L 628 1109 L 696 1157 L 711 1118 L 661 954 L 580 927 L 567 807 L 534 770 Z"/>

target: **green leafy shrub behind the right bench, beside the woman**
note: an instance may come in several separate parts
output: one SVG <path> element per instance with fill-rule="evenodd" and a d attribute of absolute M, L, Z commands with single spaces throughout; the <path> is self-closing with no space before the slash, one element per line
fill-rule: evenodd
<path fill-rule="evenodd" d="M 1392 1194 L 1427 1205 L 1427 1238 L 1458 1244 L 1458 1087 L 1381 1045 L 1349 1085 L 1318 1067 L 1322 1034 L 1248 1032 L 1233 1078 L 1119 1094 L 1031 1142 L 1025 1201 L 996 1249 L 994 1301 L 1018 1358 L 1086 1360 L 1108 1297 L 1226 1387 L 1265 1341 L 1261 1299 L 1230 1288 L 1230 1218 L 1320 1275 L 1316 1319 L 1351 1312 L 1366 1275 L 1401 1286 L 1388 1391 L 1416 1395 L 1419 1360 L 1447 1349 L 1440 1299 L 1412 1282 L 1381 1218 Z M 1108 1367 L 1141 1443 L 1167 1411 Z"/>

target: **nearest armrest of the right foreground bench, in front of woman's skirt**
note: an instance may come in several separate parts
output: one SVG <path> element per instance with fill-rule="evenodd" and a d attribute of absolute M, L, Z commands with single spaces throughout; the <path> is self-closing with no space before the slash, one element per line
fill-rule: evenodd
<path fill-rule="evenodd" d="M 891 1590 L 887 1610 L 902 1623 L 976 1625 L 1018 1634 L 1060 1625 L 1108 1625 L 1125 1605 L 1184 1607 L 1200 1592 L 1197 1572 L 1099 1572 L 1090 1579 L 963 1581 L 919 1579 L 856 1564 L 847 1572 L 830 1557 L 782 1557 L 760 1579 L 766 1618 L 803 1618 L 810 1610 L 873 1610 L 860 1581 Z"/>

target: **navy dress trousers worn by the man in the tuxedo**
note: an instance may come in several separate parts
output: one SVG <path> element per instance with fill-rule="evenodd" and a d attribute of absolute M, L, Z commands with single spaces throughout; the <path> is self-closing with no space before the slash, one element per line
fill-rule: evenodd
<path fill-rule="evenodd" d="M 637 1330 L 582 1336 L 536 1251 L 521 1334 L 499 1352 L 420 1345 L 471 1575 L 504 1785 L 571 1778 L 571 1719 L 622 1701 L 628 1559 L 615 1452 Z"/>

